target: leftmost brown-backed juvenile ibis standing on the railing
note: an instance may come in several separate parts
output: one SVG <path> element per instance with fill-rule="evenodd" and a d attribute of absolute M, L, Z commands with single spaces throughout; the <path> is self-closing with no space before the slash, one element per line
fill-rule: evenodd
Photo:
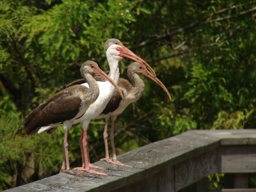
<path fill-rule="evenodd" d="M 79 84 L 65 88 L 65 90 L 56 93 L 47 102 L 40 104 L 36 109 L 31 111 L 24 121 L 25 132 L 29 135 L 47 131 L 52 127 L 58 127 L 58 125 L 63 124 L 65 138 L 63 142 L 63 164 L 61 172 L 70 174 L 73 174 L 73 172 L 70 171 L 68 159 L 68 130 L 72 127 L 74 120 L 83 116 L 90 104 L 95 102 L 100 92 L 97 82 L 92 77 L 92 73 L 104 77 L 118 89 L 112 79 L 100 70 L 97 63 L 93 61 L 83 63 L 80 72 L 90 88 Z M 118 92 L 122 95 L 119 89 Z M 67 169 L 65 162 L 67 163 Z"/>

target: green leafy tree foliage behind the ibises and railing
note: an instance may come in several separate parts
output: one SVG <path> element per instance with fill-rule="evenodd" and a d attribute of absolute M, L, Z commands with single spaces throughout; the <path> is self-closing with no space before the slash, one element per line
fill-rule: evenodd
<path fill-rule="evenodd" d="M 173 101 L 145 79 L 143 97 L 118 118 L 118 153 L 189 129 L 255 128 L 255 1 L 0 1 L 0 190 L 58 173 L 63 129 L 24 134 L 22 121 L 83 61 L 108 71 L 104 42 L 118 38 L 148 61 Z M 121 63 L 122 74 L 125 65 Z M 81 164 L 81 125 L 71 130 Z M 104 156 L 103 120 L 90 125 L 92 161 Z M 211 179 L 212 188 L 220 182 Z M 254 175 L 255 180 L 255 175 Z M 251 180 L 253 180 L 253 178 Z M 255 181 L 254 181 L 255 183 Z"/>

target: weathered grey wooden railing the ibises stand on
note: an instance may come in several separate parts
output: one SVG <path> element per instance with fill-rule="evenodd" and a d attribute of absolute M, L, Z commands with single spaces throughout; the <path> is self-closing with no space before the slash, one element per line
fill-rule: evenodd
<path fill-rule="evenodd" d="M 256 130 L 188 131 L 127 152 L 118 159 L 134 168 L 98 161 L 108 177 L 60 173 L 9 191 L 208 191 L 207 175 L 228 173 L 230 189 L 248 188 L 256 172 Z M 236 188 L 236 189 L 234 189 Z"/>

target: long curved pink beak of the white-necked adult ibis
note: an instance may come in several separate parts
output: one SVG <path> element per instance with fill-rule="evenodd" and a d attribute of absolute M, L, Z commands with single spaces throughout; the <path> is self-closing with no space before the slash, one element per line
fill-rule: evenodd
<path fill-rule="evenodd" d="M 127 47 L 125 47 L 123 44 L 121 46 L 123 47 L 123 50 L 120 51 L 119 56 L 121 56 L 122 58 L 124 58 L 124 57 L 129 58 L 133 61 L 138 61 L 141 65 L 144 65 L 151 72 L 151 74 L 154 75 L 154 77 L 156 77 L 156 73 L 154 72 L 153 68 L 151 68 L 150 65 L 148 65 L 148 63 L 146 61 L 141 59 L 139 56 L 136 56 L 136 54 L 134 54 L 134 52 L 132 52 Z"/>

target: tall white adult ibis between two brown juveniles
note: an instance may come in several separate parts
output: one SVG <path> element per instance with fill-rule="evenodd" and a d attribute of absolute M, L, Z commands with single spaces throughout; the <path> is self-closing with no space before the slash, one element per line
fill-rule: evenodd
<path fill-rule="evenodd" d="M 106 56 L 110 68 L 109 76 L 111 79 L 113 79 L 115 83 L 118 82 L 120 75 L 118 62 L 124 57 L 140 62 L 141 65 L 145 65 L 148 70 L 154 73 L 152 68 L 145 61 L 143 61 L 140 57 L 136 56 L 136 54 L 127 49 L 127 47 L 125 47 L 119 40 L 115 38 L 111 38 L 105 42 L 104 50 L 106 51 Z M 84 172 L 96 173 L 99 175 L 106 175 L 104 173 L 95 172 L 94 170 L 90 169 L 87 130 L 90 121 L 97 118 L 97 116 L 99 116 L 100 113 L 102 113 L 102 111 L 106 108 L 109 100 L 115 92 L 115 89 L 108 82 L 97 81 L 97 83 L 99 84 L 100 90 L 99 97 L 97 98 L 97 100 L 95 100 L 95 102 L 93 102 L 93 104 L 90 105 L 90 107 L 86 110 L 83 116 L 74 120 L 74 124 L 83 122 L 83 131 L 80 138 L 83 166 L 81 168 L 77 168 L 77 170 L 83 170 Z M 87 86 L 86 83 L 81 85 Z"/>

